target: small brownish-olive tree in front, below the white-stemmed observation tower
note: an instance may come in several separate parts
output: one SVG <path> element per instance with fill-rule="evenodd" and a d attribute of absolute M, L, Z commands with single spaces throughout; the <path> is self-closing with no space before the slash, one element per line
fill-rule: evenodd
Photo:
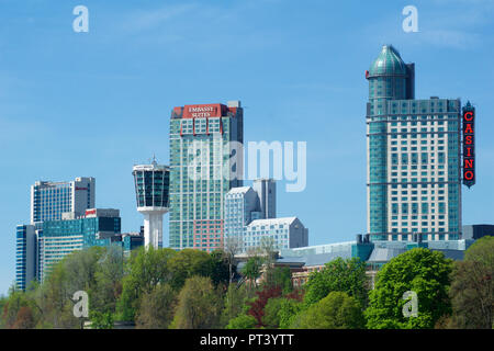
<path fill-rule="evenodd" d="M 141 301 L 136 317 L 137 329 L 167 329 L 173 319 L 176 303 L 177 296 L 170 285 L 157 285 Z"/>

